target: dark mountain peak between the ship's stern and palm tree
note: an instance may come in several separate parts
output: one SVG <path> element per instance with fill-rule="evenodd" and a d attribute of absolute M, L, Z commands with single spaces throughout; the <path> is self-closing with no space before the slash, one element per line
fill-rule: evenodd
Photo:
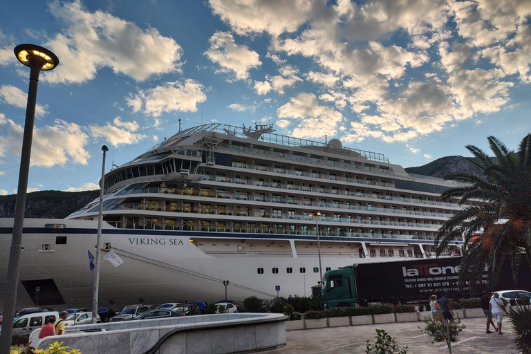
<path fill-rule="evenodd" d="M 475 158 L 472 158 L 474 160 Z M 438 158 L 435 161 L 429 162 L 424 166 L 407 167 L 405 169 L 410 174 L 422 174 L 424 176 L 432 176 L 443 178 L 447 174 L 455 174 L 465 172 L 468 174 L 481 175 L 483 170 L 472 164 L 461 156 L 446 156 Z"/>

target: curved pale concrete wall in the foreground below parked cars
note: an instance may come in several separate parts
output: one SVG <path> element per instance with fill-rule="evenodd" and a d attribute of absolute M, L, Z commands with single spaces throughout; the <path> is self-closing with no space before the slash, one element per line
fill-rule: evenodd
<path fill-rule="evenodd" d="M 59 341 L 88 354 L 252 353 L 286 344 L 286 319 L 276 313 L 233 313 L 91 324 L 41 339 L 35 348 Z"/>

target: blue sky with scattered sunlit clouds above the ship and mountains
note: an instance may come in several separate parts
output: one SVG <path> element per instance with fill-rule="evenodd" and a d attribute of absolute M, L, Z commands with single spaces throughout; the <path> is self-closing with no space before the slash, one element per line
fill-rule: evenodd
<path fill-rule="evenodd" d="M 28 192 L 98 189 L 102 145 L 109 171 L 179 119 L 271 122 L 404 167 L 531 131 L 529 0 L 7 1 L 0 195 L 17 192 L 24 43 L 60 62 L 40 75 Z"/>

